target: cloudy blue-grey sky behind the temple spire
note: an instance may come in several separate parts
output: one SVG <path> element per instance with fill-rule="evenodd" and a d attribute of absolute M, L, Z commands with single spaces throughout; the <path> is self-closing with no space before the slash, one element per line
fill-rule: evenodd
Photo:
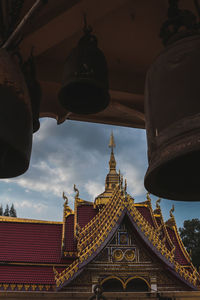
<path fill-rule="evenodd" d="M 127 178 L 128 192 L 135 202 L 144 201 L 143 179 L 147 168 L 146 135 L 141 129 L 65 121 L 57 125 L 54 119 L 42 119 L 34 134 L 29 170 L 19 177 L 0 180 L 0 204 L 14 203 L 18 217 L 61 221 L 62 192 L 73 208 L 76 184 L 80 197 L 93 201 L 104 191 L 108 173 L 111 131 L 115 137 L 117 169 Z M 157 197 L 152 196 L 155 207 Z M 200 203 L 162 200 L 165 220 L 175 205 L 177 225 L 184 219 L 199 217 Z"/>

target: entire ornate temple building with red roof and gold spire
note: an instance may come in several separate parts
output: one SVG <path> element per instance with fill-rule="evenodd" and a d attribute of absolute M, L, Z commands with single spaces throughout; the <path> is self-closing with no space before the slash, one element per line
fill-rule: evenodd
<path fill-rule="evenodd" d="M 135 203 L 116 171 L 113 135 L 109 146 L 105 191 L 94 202 L 82 199 L 74 186 L 74 210 L 63 193 L 62 222 L 0 217 L 1 292 L 15 292 L 17 299 L 22 291 L 87 294 L 95 285 L 105 294 L 199 289 L 174 207 L 165 222 L 160 199 L 154 210 L 149 194 Z"/>

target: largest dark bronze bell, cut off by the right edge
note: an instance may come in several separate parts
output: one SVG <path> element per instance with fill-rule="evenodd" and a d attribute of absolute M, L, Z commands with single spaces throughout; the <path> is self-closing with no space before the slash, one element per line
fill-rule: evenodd
<path fill-rule="evenodd" d="M 146 189 L 200 201 L 200 36 L 166 47 L 146 79 Z"/>

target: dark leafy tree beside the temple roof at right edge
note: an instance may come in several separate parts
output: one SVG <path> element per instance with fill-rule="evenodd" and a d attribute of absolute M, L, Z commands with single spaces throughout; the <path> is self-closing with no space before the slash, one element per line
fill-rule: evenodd
<path fill-rule="evenodd" d="M 183 228 L 179 228 L 182 241 L 189 253 L 195 267 L 200 266 L 200 220 L 186 220 Z"/>

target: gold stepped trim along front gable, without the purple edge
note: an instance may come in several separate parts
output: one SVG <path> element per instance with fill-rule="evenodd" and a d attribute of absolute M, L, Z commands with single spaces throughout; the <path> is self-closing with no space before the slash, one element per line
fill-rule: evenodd
<path fill-rule="evenodd" d="M 191 284 L 196 285 L 197 275 L 199 277 L 199 274 L 196 271 L 190 273 L 175 261 L 175 248 L 173 247 L 171 251 L 168 250 L 160 239 L 160 234 L 157 233 L 156 229 L 142 216 L 131 197 L 126 196 L 124 189 L 120 189 L 120 187 L 117 186 L 110 201 L 86 226 L 80 229 L 77 243 L 78 258 L 61 273 L 55 275 L 57 287 L 69 280 L 79 270 L 79 265 L 96 252 L 108 237 L 112 228 L 116 225 L 125 207 L 129 210 L 133 220 L 154 248 L 174 265 L 174 269 L 181 277 Z"/>

